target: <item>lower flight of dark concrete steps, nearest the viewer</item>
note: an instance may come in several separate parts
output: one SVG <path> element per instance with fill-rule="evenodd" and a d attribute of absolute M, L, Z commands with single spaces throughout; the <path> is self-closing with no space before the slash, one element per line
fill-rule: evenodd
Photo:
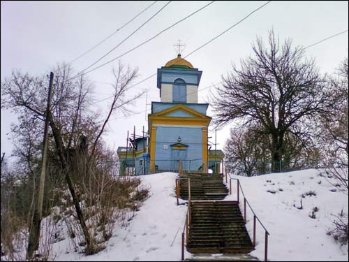
<path fill-rule="evenodd" d="M 191 253 L 247 254 L 253 250 L 235 201 L 192 202 L 189 232 Z"/>

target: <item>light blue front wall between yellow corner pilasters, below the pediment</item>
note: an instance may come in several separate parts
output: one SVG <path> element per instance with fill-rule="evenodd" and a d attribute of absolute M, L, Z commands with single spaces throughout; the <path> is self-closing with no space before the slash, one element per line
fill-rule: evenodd
<path fill-rule="evenodd" d="M 185 150 L 174 150 L 178 142 L 187 145 Z M 173 160 L 170 160 L 173 159 Z M 158 126 L 156 129 L 155 160 L 158 170 L 177 170 L 178 159 L 184 170 L 198 170 L 202 164 L 202 129 L 191 127 Z"/>

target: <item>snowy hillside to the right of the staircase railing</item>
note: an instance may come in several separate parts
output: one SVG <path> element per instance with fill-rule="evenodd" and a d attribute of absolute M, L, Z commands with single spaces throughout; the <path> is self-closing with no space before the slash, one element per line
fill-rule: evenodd
<path fill-rule="evenodd" d="M 339 215 L 342 208 L 348 214 L 348 197 L 317 170 L 232 177 L 239 178 L 248 202 L 270 233 L 269 260 L 348 261 L 348 245 L 340 247 L 326 234 L 332 227 L 333 215 Z M 236 193 L 234 182 L 232 188 Z M 301 199 L 302 210 L 299 209 Z M 243 205 L 240 207 L 242 209 Z M 318 212 L 314 212 L 315 219 L 312 219 L 309 216 L 315 207 Z M 250 235 L 253 232 L 252 216 L 247 212 L 246 228 Z M 263 260 L 265 231 L 259 224 L 257 232 L 257 247 L 251 255 Z"/>

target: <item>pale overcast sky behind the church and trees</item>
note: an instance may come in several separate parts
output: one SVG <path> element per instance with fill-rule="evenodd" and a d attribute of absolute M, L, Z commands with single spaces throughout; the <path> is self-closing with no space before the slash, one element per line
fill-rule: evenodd
<path fill-rule="evenodd" d="M 31 75 L 42 75 L 59 62 L 70 62 L 96 43 L 112 34 L 154 1 L 1 1 L 1 81 L 10 77 L 13 69 Z M 81 71 L 112 50 L 131 32 L 140 27 L 168 1 L 157 1 L 133 22 L 120 29 L 105 43 L 73 62 L 75 71 Z M 136 34 L 107 55 L 105 61 L 130 50 L 143 41 L 170 27 L 209 1 L 172 1 Z M 173 44 L 181 39 L 186 44 L 182 57 L 218 36 L 242 20 L 267 1 L 216 1 L 184 22 L 165 31 L 149 43 L 121 57 L 123 64 L 138 67 L 137 82 L 156 73 L 157 68 L 177 57 Z M 199 86 L 199 103 L 209 102 L 209 92 L 221 82 L 221 75 L 230 71 L 231 64 L 251 54 L 255 38 L 267 40 L 268 31 L 274 29 L 281 42 L 292 39 L 293 45 L 304 47 L 348 29 L 348 1 L 272 1 L 246 20 L 226 32 L 204 48 L 191 54 L 188 61 L 202 71 Z M 322 73 L 334 73 L 344 57 L 348 56 L 348 31 L 306 49 L 306 57 L 313 58 Z M 95 81 L 96 101 L 112 94 L 112 66 L 117 60 L 88 73 Z M 147 101 L 160 101 L 156 76 L 149 78 L 135 91 L 148 89 Z M 202 91 L 201 91 L 202 90 Z M 109 100 L 96 103 L 107 110 Z M 126 146 L 127 131 L 141 135 L 142 126 L 147 131 L 146 96 L 132 108 L 138 114 L 129 117 L 113 115 L 104 138 L 109 147 L 117 150 Z M 147 106 L 147 113 L 150 107 Z M 211 108 L 208 115 L 214 117 Z M 6 135 L 15 115 L 1 110 L 1 153 L 9 156 L 12 144 Z M 223 148 L 229 128 L 217 132 L 218 148 Z M 211 142 L 214 142 L 214 132 Z"/>

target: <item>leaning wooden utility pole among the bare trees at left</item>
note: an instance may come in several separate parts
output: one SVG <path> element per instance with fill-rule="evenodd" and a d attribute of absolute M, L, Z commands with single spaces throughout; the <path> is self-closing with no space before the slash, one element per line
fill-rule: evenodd
<path fill-rule="evenodd" d="M 52 85 L 53 85 L 53 73 L 50 73 L 50 85 L 48 87 L 47 95 L 47 106 L 45 112 L 45 127 L 44 127 L 44 139 L 43 139 L 43 158 L 41 163 L 41 173 L 40 173 L 40 185 L 38 193 L 38 204 L 36 210 L 34 211 L 33 220 L 31 222 L 30 233 L 29 233 L 29 243 L 27 250 L 27 259 L 34 259 L 33 254 L 35 250 L 38 250 L 39 240 L 40 240 L 40 224 L 43 218 L 43 193 L 45 187 L 45 170 L 46 170 L 46 160 L 47 160 L 47 144 L 48 144 L 48 125 L 49 125 L 49 115 L 51 110 L 51 99 L 52 99 Z"/>

